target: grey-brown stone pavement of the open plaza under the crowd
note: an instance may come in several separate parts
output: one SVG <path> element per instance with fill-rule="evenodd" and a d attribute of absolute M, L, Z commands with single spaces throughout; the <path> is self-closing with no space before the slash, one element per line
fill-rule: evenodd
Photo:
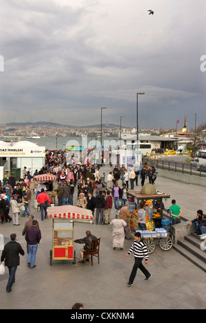
<path fill-rule="evenodd" d="M 106 175 L 108 170 L 108 166 L 101 168 L 101 172 Z M 196 210 L 206 210 L 205 191 L 203 192 L 205 189 L 201 186 L 158 177 L 155 187 L 171 195 L 171 199 L 164 202 L 165 208 L 171 205 L 172 199 L 176 199 L 188 220 L 194 219 Z M 138 188 L 140 190 L 141 186 Z M 86 230 L 91 230 L 92 234 L 101 238 L 100 265 L 96 259 L 93 266 L 91 263 L 78 263 L 78 250 L 82 245 L 75 244 L 77 266 L 73 266 L 71 260 L 54 260 L 50 266 L 52 220 L 41 221 L 40 213 L 34 208 L 32 212 L 42 232 L 34 269 L 27 268 L 26 243 L 21 234 L 27 218 L 20 217 L 21 225 L 17 227 L 12 223 L 0 225 L 0 233 L 5 237 L 5 243 L 10 241 L 10 234 L 16 232 L 17 241 L 25 250 L 11 293 L 5 291 L 8 268 L 5 275 L 0 276 L 1 309 L 71 309 L 75 302 L 82 302 L 84 309 L 89 310 L 205 309 L 205 273 L 174 249 L 163 252 L 157 245 L 155 252 L 149 255 L 146 265 L 152 274 L 150 280 L 145 281 L 141 271 L 137 271 L 133 287 L 128 287 L 126 283 L 134 258 L 133 254 L 126 258 L 126 254 L 132 241 L 125 241 L 123 252 L 114 252 L 110 225 L 74 225 L 75 238 L 84 237 Z"/>

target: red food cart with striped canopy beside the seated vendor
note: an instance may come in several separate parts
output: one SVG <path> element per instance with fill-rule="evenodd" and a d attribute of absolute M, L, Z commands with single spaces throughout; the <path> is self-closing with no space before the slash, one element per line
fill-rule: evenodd
<path fill-rule="evenodd" d="M 91 210 L 73 205 L 54 206 L 47 209 L 47 216 L 52 218 L 52 260 L 73 260 L 76 265 L 76 251 L 73 248 L 74 223 L 92 223 Z"/>

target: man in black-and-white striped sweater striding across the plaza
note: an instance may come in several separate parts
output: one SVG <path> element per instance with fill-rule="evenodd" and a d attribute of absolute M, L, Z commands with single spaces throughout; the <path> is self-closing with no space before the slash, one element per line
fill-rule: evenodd
<path fill-rule="evenodd" d="M 133 242 L 133 245 L 131 245 L 128 254 L 126 254 L 126 258 L 128 258 L 129 254 L 133 252 L 135 256 L 135 264 L 133 266 L 133 270 L 130 274 L 129 281 L 127 283 L 128 286 L 133 286 L 133 281 L 135 280 L 135 276 L 137 274 L 137 269 L 139 268 L 143 274 L 145 274 L 146 278 L 145 280 L 148 280 L 152 275 L 149 273 L 149 271 L 142 265 L 142 260 L 145 257 L 145 263 L 148 263 L 148 249 L 146 247 L 146 244 L 144 241 L 141 240 L 141 233 L 136 232 L 135 233 L 135 241 Z"/>

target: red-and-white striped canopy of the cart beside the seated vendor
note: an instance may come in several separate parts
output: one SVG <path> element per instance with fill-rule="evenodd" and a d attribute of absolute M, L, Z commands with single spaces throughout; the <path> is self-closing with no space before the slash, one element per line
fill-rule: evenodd
<path fill-rule="evenodd" d="M 52 206 L 47 208 L 47 215 L 53 219 L 83 220 L 86 222 L 93 220 L 91 210 L 73 205 Z"/>

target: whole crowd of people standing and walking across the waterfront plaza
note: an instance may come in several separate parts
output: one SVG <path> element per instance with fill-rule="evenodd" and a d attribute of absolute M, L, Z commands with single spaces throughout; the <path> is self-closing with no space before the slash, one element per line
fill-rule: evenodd
<path fill-rule="evenodd" d="M 56 194 L 58 198 L 58 205 L 73 205 L 73 195 L 76 192 L 77 203 L 79 208 L 85 208 L 91 210 L 93 214 L 93 223 L 95 225 L 111 225 L 112 238 L 113 238 L 113 250 L 116 251 L 119 248 L 121 251 L 124 249 L 125 239 L 130 240 L 133 237 L 130 234 L 129 220 L 129 203 L 128 203 L 128 189 L 130 183 L 130 190 L 134 189 L 134 186 L 138 186 L 138 179 L 141 179 L 141 186 L 144 186 L 145 179 L 148 178 L 149 183 L 155 183 L 157 172 L 155 168 L 148 167 L 148 164 L 140 164 L 140 166 L 133 165 L 130 171 L 126 169 L 124 165 L 121 167 L 115 166 L 113 171 L 109 172 L 105 181 L 102 181 L 100 177 L 100 166 L 93 164 L 67 164 L 67 159 L 62 151 L 59 152 L 47 152 L 46 162 L 41 170 L 36 170 L 34 175 L 30 175 L 27 172 L 26 167 L 23 168 L 23 179 L 20 179 L 16 183 L 14 175 L 11 174 L 8 177 L 5 174 L 3 183 L 1 185 L 0 195 L 0 213 L 1 223 L 13 222 L 14 225 L 19 225 L 19 214 L 21 207 L 23 211 L 21 216 L 29 216 L 29 221 L 25 223 L 23 229 L 23 235 L 27 241 L 27 266 L 30 268 L 36 267 L 36 252 L 38 249 L 38 243 L 41 241 L 41 231 L 39 229 L 38 221 L 34 219 L 34 215 L 31 214 L 30 203 L 32 200 L 32 193 L 36 194 L 36 201 L 41 206 L 41 220 L 47 219 L 47 208 L 51 203 L 47 190 L 54 190 L 54 184 L 52 182 L 45 183 L 45 188 L 41 188 L 41 191 L 37 192 L 37 184 L 35 180 L 36 175 L 52 174 L 56 175 L 58 181 L 58 187 L 56 188 Z M 112 219 L 111 210 L 115 206 L 115 218 Z M 11 215 L 10 216 L 10 209 Z M 170 207 L 172 215 L 172 224 L 179 223 L 181 221 L 181 214 L 183 211 L 176 205 L 176 201 L 172 200 L 172 206 Z M 144 203 L 141 203 L 137 214 L 137 221 L 141 230 L 146 230 L 146 211 Z M 191 221 L 190 225 L 193 225 L 198 234 L 206 233 L 206 216 L 202 210 L 198 210 L 196 219 Z M 83 252 L 85 247 L 88 247 L 88 243 L 91 245 L 91 238 L 93 238 L 91 232 L 86 232 L 86 237 L 82 239 L 76 239 L 75 243 L 85 243 L 84 248 L 80 249 L 80 262 L 83 262 Z M 15 278 L 16 267 L 19 265 L 19 258 L 15 261 L 10 260 L 8 257 L 8 250 L 10 248 L 15 249 L 16 254 L 24 255 L 21 245 L 16 243 L 16 235 L 11 235 L 12 244 L 5 245 L 1 256 L 1 262 L 5 261 L 5 265 L 8 265 L 10 270 L 10 278 L 8 280 L 7 291 L 12 290 L 12 284 Z M 128 255 L 133 252 L 135 256 L 135 265 L 130 274 L 128 286 L 133 285 L 133 280 L 137 273 L 137 268 L 145 274 L 146 280 L 148 280 L 151 274 L 142 265 L 142 260 L 145 256 L 146 263 L 148 262 L 148 253 L 146 246 L 141 240 L 141 234 L 135 234 L 135 241 L 130 247 Z M 88 260 L 88 259 L 87 259 Z M 86 260 L 86 261 L 87 261 Z"/>

